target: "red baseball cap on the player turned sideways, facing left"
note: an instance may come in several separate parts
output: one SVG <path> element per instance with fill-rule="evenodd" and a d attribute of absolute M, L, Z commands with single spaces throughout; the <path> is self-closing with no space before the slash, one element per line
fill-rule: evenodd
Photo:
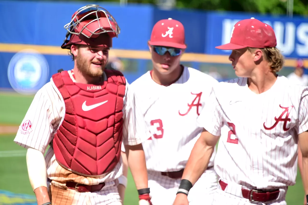
<path fill-rule="evenodd" d="M 215 48 L 236 50 L 246 47 L 269 48 L 276 46 L 277 41 L 273 28 L 252 17 L 237 22 L 233 26 L 230 43 Z"/>

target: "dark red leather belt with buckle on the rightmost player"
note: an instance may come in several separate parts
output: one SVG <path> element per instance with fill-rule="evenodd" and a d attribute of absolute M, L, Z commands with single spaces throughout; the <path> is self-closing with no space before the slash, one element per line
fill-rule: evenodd
<path fill-rule="evenodd" d="M 219 184 L 221 186 L 221 189 L 225 191 L 225 188 L 227 187 L 227 183 L 219 180 Z M 243 197 L 246 199 L 249 199 L 251 202 L 268 202 L 272 200 L 276 200 L 279 196 L 279 189 L 276 191 L 262 191 L 262 190 L 246 190 L 242 188 L 242 194 Z"/>

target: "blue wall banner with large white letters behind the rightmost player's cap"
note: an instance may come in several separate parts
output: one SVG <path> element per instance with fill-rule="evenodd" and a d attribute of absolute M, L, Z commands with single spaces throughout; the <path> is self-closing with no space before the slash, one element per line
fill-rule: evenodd
<path fill-rule="evenodd" d="M 245 18 L 257 18 L 273 27 L 277 47 L 286 58 L 308 58 L 308 18 L 273 17 L 241 13 L 208 13 L 205 53 L 229 54 L 215 46 L 230 41 L 231 30 L 236 22 Z M 211 29 L 212 28 L 212 29 Z"/>

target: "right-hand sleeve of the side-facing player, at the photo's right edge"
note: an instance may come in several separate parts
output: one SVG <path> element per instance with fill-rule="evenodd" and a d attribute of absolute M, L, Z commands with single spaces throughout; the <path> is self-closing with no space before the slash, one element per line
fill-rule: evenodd
<path fill-rule="evenodd" d="M 301 134 L 308 130 L 308 87 L 302 92 L 301 98 L 299 100 L 299 110 L 298 110 L 298 134 Z"/>

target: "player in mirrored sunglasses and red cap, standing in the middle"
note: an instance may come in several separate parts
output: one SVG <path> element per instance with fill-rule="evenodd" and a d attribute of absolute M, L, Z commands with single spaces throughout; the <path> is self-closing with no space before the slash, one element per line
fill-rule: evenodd
<path fill-rule="evenodd" d="M 184 26 L 172 18 L 158 21 L 148 42 L 153 69 L 132 82 L 151 137 L 142 143 L 148 186 L 154 205 L 171 205 L 190 152 L 202 127 L 197 117 L 207 106 L 212 86 L 208 74 L 180 64 L 186 49 Z M 191 205 L 212 204 L 218 176 L 213 169 L 215 151 L 207 170 L 192 189 Z"/>

